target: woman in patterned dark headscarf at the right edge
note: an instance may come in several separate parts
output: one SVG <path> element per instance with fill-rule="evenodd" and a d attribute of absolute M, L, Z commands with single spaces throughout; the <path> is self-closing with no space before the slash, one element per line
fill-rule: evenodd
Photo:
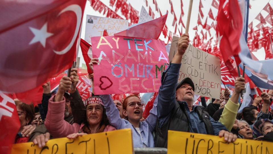
<path fill-rule="evenodd" d="M 263 137 L 267 133 L 273 131 L 273 122 L 268 119 L 261 119 L 254 123 L 253 126 L 253 137 Z"/>

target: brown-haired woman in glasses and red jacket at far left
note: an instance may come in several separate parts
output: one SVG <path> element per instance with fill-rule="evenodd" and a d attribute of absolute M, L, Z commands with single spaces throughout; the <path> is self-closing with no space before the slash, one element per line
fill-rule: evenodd
<path fill-rule="evenodd" d="M 15 101 L 18 117 L 21 123 L 18 134 L 15 137 L 14 143 L 26 143 L 28 142 L 28 136 L 22 136 L 21 133 L 25 126 L 30 125 L 34 118 L 34 106 L 33 104 L 26 104 L 20 101 Z"/>

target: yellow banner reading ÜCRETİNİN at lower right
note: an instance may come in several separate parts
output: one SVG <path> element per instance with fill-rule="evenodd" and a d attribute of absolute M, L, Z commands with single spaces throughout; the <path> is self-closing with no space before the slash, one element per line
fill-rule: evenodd
<path fill-rule="evenodd" d="M 273 153 L 273 143 L 236 139 L 226 143 L 224 137 L 189 133 L 182 131 L 168 131 L 168 154 L 269 154 Z"/>

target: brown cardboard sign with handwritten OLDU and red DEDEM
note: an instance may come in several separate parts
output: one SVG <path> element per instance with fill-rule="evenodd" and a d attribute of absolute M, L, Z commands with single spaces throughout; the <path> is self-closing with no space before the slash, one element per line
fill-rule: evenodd
<path fill-rule="evenodd" d="M 179 37 L 173 37 L 169 52 L 169 60 L 177 52 Z M 178 82 L 186 77 L 195 85 L 195 94 L 220 99 L 221 67 L 220 59 L 189 44 L 181 61 Z"/>

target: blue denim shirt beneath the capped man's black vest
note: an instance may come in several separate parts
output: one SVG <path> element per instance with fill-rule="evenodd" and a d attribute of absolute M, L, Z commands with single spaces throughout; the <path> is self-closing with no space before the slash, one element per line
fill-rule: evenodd
<path fill-rule="evenodd" d="M 169 67 L 163 72 L 161 86 L 158 92 L 157 113 L 159 127 L 162 127 L 165 123 L 167 123 L 167 121 L 169 121 L 171 112 L 175 106 L 175 92 L 180 66 L 181 64 L 171 63 Z M 193 106 L 193 110 L 190 112 L 187 102 L 183 103 L 187 111 L 186 114 L 189 116 L 190 132 L 207 134 L 204 123 L 198 117 L 196 109 L 197 106 Z M 215 121 L 212 119 L 212 117 L 209 118 L 215 135 L 218 135 L 221 130 L 228 131 L 222 123 Z"/>

